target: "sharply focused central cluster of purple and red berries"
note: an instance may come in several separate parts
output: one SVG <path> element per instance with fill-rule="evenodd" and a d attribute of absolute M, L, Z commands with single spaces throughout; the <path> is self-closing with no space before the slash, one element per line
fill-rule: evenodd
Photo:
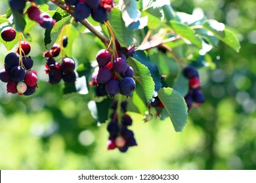
<path fill-rule="evenodd" d="M 100 68 L 92 77 L 93 83 L 104 84 L 110 98 L 117 93 L 131 97 L 136 83 L 133 80 L 133 68 L 127 64 L 125 55 L 118 53 L 112 57 L 108 50 L 102 49 L 96 55 L 96 61 Z"/>

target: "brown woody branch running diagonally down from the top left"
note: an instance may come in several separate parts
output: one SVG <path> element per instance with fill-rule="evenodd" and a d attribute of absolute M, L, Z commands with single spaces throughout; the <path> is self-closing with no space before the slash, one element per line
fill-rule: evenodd
<path fill-rule="evenodd" d="M 67 7 L 66 4 L 64 3 L 64 1 L 51 0 L 51 2 L 54 3 L 56 6 L 62 8 L 63 10 L 65 10 L 66 12 L 71 14 L 72 16 L 74 15 L 74 8 L 73 7 Z M 109 39 L 106 36 L 104 36 L 102 33 L 100 33 L 99 31 L 97 31 L 95 29 L 95 27 L 93 27 L 93 25 L 90 24 L 90 22 L 88 22 L 86 19 L 81 20 L 79 22 L 82 25 L 84 25 L 85 27 L 87 27 L 87 29 L 89 29 L 89 31 L 91 31 L 91 33 L 94 33 L 96 35 L 96 37 L 98 37 L 106 46 L 108 46 L 108 43 L 110 42 Z"/>

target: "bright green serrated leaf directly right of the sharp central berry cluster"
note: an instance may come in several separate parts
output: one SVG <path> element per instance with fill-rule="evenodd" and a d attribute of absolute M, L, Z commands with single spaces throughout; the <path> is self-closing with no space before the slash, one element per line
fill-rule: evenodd
<path fill-rule="evenodd" d="M 134 78 L 142 85 L 146 101 L 149 102 L 150 99 L 152 99 L 155 84 L 153 78 L 150 76 L 150 71 L 148 71 L 148 67 L 146 67 L 144 64 L 140 63 L 136 59 L 129 59 L 129 65 L 133 67 L 135 71 Z"/>

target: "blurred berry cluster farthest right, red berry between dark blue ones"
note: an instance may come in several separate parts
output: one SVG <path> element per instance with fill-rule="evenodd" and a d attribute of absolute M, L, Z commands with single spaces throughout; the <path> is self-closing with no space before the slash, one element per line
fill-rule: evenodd
<path fill-rule="evenodd" d="M 184 97 L 188 110 L 190 110 L 192 105 L 200 107 L 200 105 L 205 101 L 205 97 L 201 92 L 198 71 L 193 66 L 187 66 L 183 70 L 183 75 L 188 78 L 189 81 L 189 90 Z"/>

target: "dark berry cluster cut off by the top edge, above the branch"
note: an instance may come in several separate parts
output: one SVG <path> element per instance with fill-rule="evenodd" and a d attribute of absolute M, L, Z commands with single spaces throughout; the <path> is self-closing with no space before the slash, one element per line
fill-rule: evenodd
<path fill-rule="evenodd" d="M 75 6 L 74 18 L 76 21 L 84 20 L 91 14 L 96 22 L 108 20 L 108 12 L 113 7 L 113 0 L 65 0 L 66 5 Z"/>

